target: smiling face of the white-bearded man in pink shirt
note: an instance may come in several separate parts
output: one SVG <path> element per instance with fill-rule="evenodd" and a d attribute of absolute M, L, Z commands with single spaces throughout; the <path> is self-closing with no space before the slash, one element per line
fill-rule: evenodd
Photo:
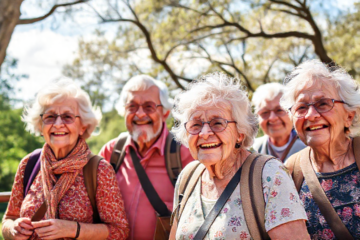
<path fill-rule="evenodd" d="M 135 103 L 142 105 L 145 102 L 154 102 L 156 105 L 160 103 L 159 89 L 152 86 L 145 91 L 129 92 L 126 105 Z M 163 113 L 163 107 L 156 107 L 154 113 L 146 114 L 143 107 L 135 113 L 125 110 L 125 122 L 131 137 L 135 142 L 146 143 L 155 140 L 161 133 L 163 122 L 166 121 L 169 112 Z"/>

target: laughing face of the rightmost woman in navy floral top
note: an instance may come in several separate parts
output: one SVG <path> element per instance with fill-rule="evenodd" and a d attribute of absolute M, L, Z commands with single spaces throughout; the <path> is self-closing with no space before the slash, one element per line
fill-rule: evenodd
<path fill-rule="evenodd" d="M 314 103 L 322 98 L 341 100 L 337 90 L 322 81 L 307 84 L 296 94 L 296 102 Z M 354 112 L 348 112 L 343 103 L 335 103 L 326 113 L 318 113 L 314 106 L 310 106 L 303 118 L 293 117 L 293 123 L 300 139 L 312 148 L 329 146 L 337 141 L 344 141 L 345 127 L 350 127 Z"/>

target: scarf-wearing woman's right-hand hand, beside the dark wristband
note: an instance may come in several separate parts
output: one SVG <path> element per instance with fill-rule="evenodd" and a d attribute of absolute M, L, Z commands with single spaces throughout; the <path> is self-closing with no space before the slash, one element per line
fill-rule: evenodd
<path fill-rule="evenodd" d="M 41 239 L 74 238 L 77 230 L 76 222 L 61 219 L 32 222 L 32 225 Z"/>

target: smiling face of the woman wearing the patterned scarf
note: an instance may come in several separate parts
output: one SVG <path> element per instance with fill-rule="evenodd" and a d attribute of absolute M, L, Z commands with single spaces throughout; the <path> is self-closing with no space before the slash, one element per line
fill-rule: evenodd
<path fill-rule="evenodd" d="M 79 115 L 78 103 L 75 99 L 69 98 L 62 102 L 54 103 L 45 108 L 43 114 L 64 114 L 72 113 Z M 61 150 L 67 155 L 76 145 L 80 135 L 84 134 L 86 127 L 82 125 L 81 118 L 75 118 L 71 124 L 64 124 L 58 117 L 54 124 L 42 122 L 41 134 L 45 142 L 50 145 L 54 152 Z"/>

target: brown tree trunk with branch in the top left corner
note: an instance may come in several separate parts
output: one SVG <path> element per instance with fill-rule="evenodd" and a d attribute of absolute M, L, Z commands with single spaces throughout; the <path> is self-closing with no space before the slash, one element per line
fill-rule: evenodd
<path fill-rule="evenodd" d="M 73 5 L 87 2 L 88 0 L 77 0 L 73 2 L 58 3 L 57 0 L 51 7 L 51 9 L 43 16 L 21 19 L 20 7 L 23 0 L 1 0 L 0 1 L 0 66 L 2 65 L 5 56 L 6 49 L 9 45 L 11 35 L 16 27 L 20 24 L 31 24 L 42 21 L 51 16 L 58 8 L 69 8 Z M 41 3 L 40 3 L 41 5 Z"/>

